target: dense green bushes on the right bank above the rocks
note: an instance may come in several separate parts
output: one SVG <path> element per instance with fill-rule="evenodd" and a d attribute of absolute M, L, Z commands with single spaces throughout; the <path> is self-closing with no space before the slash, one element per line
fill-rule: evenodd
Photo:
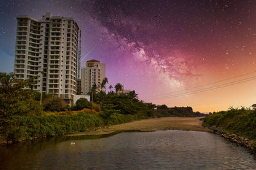
<path fill-rule="evenodd" d="M 256 109 L 230 108 L 219 111 L 204 118 L 205 126 L 220 127 L 223 131 L 238 134 L 245 138 L 256 140 Z"/>

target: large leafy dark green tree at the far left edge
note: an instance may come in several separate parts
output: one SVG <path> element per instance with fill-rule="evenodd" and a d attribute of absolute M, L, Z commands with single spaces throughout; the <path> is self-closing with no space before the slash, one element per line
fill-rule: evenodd
<path fill-rule="evenodd" d="M 31 90 L 25 89 L 33 84 L 34 77 L 20 81 L 14 73 L 0 72 L 0 118 L 42 114 L 42 107 L 35 101 Z"/>

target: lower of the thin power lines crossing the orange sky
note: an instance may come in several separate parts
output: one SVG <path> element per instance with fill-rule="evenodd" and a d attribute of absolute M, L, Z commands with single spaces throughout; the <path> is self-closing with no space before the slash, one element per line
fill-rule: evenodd
<path fill-rule="evenodd" d="M 219 89 L 221 87 L 228 87 L 230 85 L 236 85 L 238 83 L 243 83 L 243 82 L 246 82 L 246 81 L 252 81 L 252 80 L 255 80 L 255 79 L 256 79 L 256 76 L 253 76 L 253 77 L 250 77 L 250 78 L 244 78 L 242 80 L 232 81 L 230 83 L 224 83 L 224 84 L 216 85 L 216 86 L 213 86 L 213 87 L 207 87 L 205 89 L 198 89 L 198 90 L 194 90 L 194 91 L 191 91 L 191 92 L 184 92 L 184 93 L 180 93 L 180 94 L 173 94 L 171 96 L 163 96 L 161 98 L 158 97 L 156 99 L 151 99 L 151 100 L 161 100 L 161 99 L 167 99 L 167 98 L 173 98 L 173 97 L 186 96 L 188 94 L 196 94 L 196 93 L 199 93 L 199 92 L 205 92 L 205 91 L 209 91 L 209 90 Z"/>

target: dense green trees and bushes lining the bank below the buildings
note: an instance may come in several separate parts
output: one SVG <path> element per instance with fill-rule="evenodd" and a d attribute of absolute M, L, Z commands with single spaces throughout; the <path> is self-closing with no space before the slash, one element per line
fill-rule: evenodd
<path fill-rule="evenodd" d="M 122 93 L 121 83 L 115 85 L 115 92 L 109 85 L 110 92 L 106 94 L 102 89 L 106 89 L 108 78 L 98 87 L 93 85 L 89 93 L 93 102 L 79 99 L 71 108 L 58 96 L 41 96 L 29 89 L 33 83 L 33 78 L 18 81 L 13 73 L 0 73 L 0 143 L 60 136 L 142 118 L 202 116 L 190 107 L 168 108 L 144 103 L 134 90 Z"/>

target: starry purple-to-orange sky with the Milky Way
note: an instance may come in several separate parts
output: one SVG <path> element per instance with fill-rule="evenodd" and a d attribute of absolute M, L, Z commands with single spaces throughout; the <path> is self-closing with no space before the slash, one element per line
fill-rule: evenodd
<path fill-rule="evenodd" d="M 72 17 L 81 66 L 106 63 L 109 84 L 194 111 L 256 103 L 256 1 L 0 1 L 0 71 L 12 72 L 18 15 Z"/>

